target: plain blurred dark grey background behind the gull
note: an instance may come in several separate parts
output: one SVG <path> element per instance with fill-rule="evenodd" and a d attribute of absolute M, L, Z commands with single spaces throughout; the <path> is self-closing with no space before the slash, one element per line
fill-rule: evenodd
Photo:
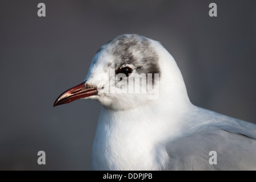
<path fill-rule="evenodd" d="M 193 104 L 256 123 L 256 1 L 0 1 L 0 169 L 91 169 L 101 105 L 53 103 L 83 81 L 99 47 L 125 33 L 163 44 Z"/>

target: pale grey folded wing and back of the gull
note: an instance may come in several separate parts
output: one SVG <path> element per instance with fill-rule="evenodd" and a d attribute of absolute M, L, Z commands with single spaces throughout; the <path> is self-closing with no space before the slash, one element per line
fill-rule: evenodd
<path fill-rule="evenodd" d="M 214 114 L 214 122 L 167 143 L 169 160 L 163 169 L 256 170 L 256 125 L 209 114 Z M 218 119 L 222 122 L 216 122 Z M 217 152 L 217 164 L 209 163 L 210 151 Z"/>

